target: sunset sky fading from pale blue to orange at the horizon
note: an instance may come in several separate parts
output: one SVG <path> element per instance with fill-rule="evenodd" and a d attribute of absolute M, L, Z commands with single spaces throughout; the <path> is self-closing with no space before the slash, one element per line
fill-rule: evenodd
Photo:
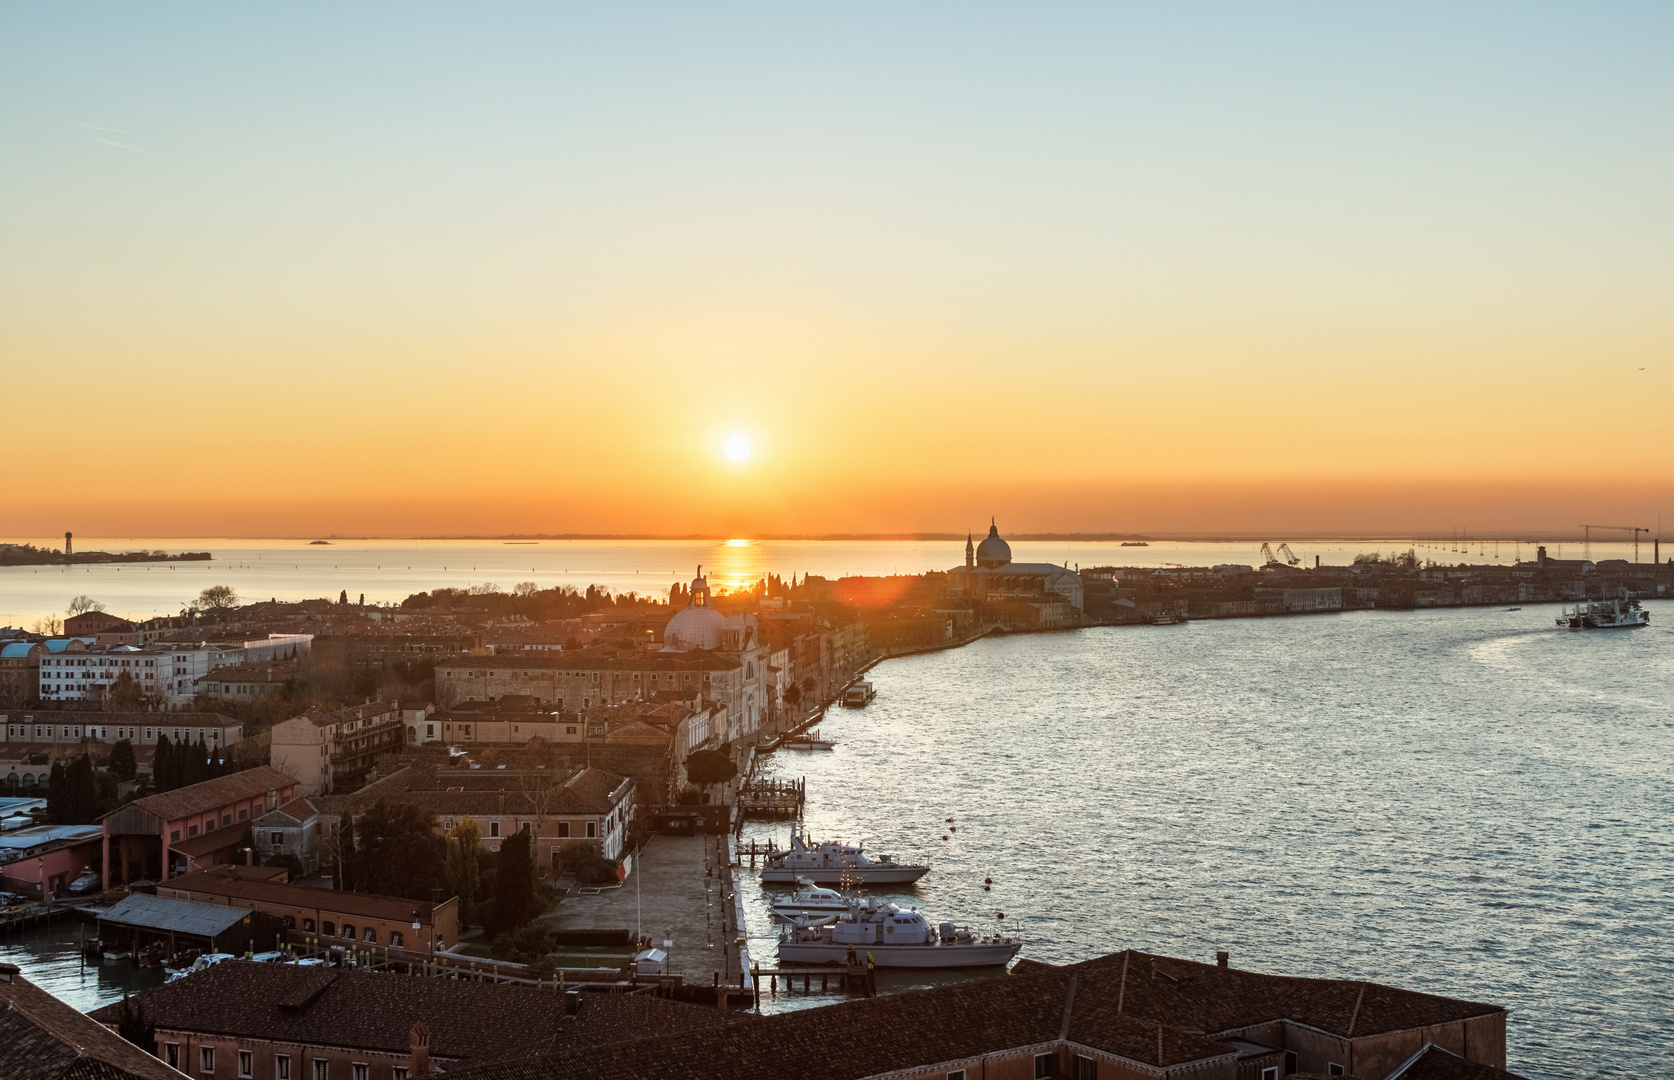
<path fill-rule="evenodd" d="M 1671 55 L 1667 3 L 5 5 L 0 539 L 1674 526 Z"/>

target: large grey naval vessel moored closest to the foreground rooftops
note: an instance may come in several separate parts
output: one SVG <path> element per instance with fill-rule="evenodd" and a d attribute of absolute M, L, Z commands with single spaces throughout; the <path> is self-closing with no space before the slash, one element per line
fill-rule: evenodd
<path fill-rule="evenodd" d="M 1003 934 L 976 934 L 953 923 L 931 926 L 917 911 L 855 899 L 832 926 L 797 923 L 778 936 L 778 963 L 865 963 L 879 968 L 994 968 L 1011 961 L 1023 943 Z"/>

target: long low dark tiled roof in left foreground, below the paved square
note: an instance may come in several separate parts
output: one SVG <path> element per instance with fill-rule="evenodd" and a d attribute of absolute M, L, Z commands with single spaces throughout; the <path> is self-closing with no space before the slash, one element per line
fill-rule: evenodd
<path fill-rule="evenodd" d="M 432 1057 L 445 1062 L 569 1041 L 591 1048 L 733 1020 L 665 998 L 596 993 L 566 1016 L 564 995 L 554 990 L 254 961 L 224 961 L 139 1000 L 157 1028 L 387 1053 L 405 1053 L 412 1026 L 424 1021 Z M 114 1025 L 121 1005 L 90 1016 Z"/>

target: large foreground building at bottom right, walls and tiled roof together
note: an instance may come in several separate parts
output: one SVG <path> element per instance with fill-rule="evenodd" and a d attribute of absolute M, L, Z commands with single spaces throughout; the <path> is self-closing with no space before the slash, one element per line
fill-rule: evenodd
<path fill-rule="evenodd" d="M 855 1033 L 864 1033 L 857 1036 Z M 1148 953 L 793 1010 L 621 1047 L 454 1070 L 454 1080 L 1505 1080 L 1505 1010 L 1353 980 Z"/>

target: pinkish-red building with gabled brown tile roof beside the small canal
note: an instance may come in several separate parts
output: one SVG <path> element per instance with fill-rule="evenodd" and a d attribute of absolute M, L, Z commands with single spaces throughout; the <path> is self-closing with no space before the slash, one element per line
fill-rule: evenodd
<path fill-rule="evenodd" d="M 102 819 L 105 884 L 116 887 L 141 877 L 167 881 L 223 862 L 243 862 L 249 822 L 295 794 L 293 777 L 259 765 L 117 807 Z"/>

